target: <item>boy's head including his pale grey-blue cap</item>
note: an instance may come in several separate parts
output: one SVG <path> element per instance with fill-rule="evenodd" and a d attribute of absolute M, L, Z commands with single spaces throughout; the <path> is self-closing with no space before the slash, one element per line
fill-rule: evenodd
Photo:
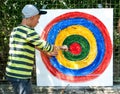
<path fill-rule="evenodd" d="M 32 4 L 27 4 L 22 9 L 23 20 L 22 24 L 34 28 L 39 22 L 40 15 L 46 14 L 47 11 L 37 9 Z"/>

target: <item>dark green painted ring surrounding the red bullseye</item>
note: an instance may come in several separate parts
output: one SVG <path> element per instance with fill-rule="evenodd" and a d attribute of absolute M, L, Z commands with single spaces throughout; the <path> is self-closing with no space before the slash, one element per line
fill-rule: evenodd
<path fill-rule="evenodd" d="M 71 36 L 68 36 L 63 41 L 63 45 L 67 45 L 69 48 L 70 45 L 74 42 L 77 42 L 81 45 L 81 48 L 82 48 L 81 53 L 78 55 L 74 55 L 69 51 L 63 51 L 64 57 L 71 61 L 78 61 L 78 60 L 84 59 L 90 51 L 90 45 L 89 45 L 88 41 L 80 35 L 71 35 Z"/>

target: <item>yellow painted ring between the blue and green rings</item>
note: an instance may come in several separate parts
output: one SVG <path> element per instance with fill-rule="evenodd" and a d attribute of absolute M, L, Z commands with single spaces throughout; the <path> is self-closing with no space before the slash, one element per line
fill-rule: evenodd
<path fill-rule="evenodd" d="M 64 67 L 71 69 L 80 69 L 90 65 L 94 61 L 97 55 L 97 44 L 94 35 L 89 29 L 80 25 L 72 25 L 59 32 L 55 40 L 55 45 L 62 46 L 63 41 L 66 39 L 66 37 L 74 34 L 83 36 L 89 42 L 90 51 L 88 56 L 80 61 L 70 61 L 64 57 L 62 51 L 58 51 L 58 55 L 56 56 L 56 58 L 58 62 Z"/>

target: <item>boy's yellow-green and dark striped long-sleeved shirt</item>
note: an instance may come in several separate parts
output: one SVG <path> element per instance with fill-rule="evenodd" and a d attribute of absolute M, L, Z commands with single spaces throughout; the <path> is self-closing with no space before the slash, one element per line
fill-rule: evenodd
<path fill-rule="evenodd" d="M 10 36 L 6 76 L 20 79 L 31 78 L 35 46 L 47 52 L 53 50 L 53 45 L 40 39 L 34 29 L 23 25 L 13 29 Z"/>

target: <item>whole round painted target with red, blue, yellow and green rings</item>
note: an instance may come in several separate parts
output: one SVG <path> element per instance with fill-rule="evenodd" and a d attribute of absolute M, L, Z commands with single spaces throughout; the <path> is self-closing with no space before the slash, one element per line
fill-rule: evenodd
<path fill-rule="evenodd" d="M 55 77 L 83 82 L 95 79 L 107 68 L 112 43 L 104 24 L 93 15 L 65 13 L 53 19 L 44 31 L 43 39 L 69 48 L 69 51 L 59 51 L 58 56 L 52 58 L 41 53 L 44 64 Z"/>

